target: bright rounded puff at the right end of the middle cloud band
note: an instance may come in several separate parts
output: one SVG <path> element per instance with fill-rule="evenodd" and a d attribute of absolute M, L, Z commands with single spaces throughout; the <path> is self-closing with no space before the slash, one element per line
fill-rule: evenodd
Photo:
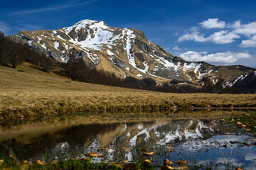
<path fill-rule="evenodd" d="M 228 30 L 221 30 L 219 32 L 213 33 L 213 35 L 210 35 L 206 39 L 215 42 L 216 44 L 228 44 L 234 42 L 235 38 L 240 38 L 240 36 L 235 33 L 228 32 Z"/>

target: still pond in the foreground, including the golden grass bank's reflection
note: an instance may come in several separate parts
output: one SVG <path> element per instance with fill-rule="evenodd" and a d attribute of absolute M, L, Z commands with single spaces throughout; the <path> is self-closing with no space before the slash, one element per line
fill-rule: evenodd
<path fill-rule="evenodd" d="M 81 121 L 66 118 L 58 123 L 2 125 L 1 157 L 14 154 L 19 160 L 53 162 L 85 158 L 95 152 L 102 157 L 92 157 L 91 162 L 138 163 L 149 159 L 160 169 L 164 159 L 169 159 L 174 166 L 178 160 L 186 160 L 191 169 L 256 169 L 253 137 L 218 118 L 170 116 L 105 123 L 90 123 L 91 117 L 84 115 L 74 118 Z"/>

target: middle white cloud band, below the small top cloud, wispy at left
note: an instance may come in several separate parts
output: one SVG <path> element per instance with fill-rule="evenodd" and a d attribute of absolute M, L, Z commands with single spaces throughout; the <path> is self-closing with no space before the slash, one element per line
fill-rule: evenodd
<path fill-rule="evenodd" d="M 229 32 L 228 30 L 221 30 L 208 37 L 204 37 L 202 34 L 198 33 L 198 30 L 196 30 L 193 31 L 193 33 L 186 33 L 185 35 L 182 35 L 178 38 L 178 42 L 194 40 L 195 42 L 215 42 L 216 44 L 228 44 L 235 41 L 235 38 L 240 38 L 240 36 Z"/>

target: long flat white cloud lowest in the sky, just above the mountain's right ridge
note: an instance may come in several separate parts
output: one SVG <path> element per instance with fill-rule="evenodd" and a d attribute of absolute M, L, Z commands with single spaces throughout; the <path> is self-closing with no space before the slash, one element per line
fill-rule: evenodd
<path fill-rule="evenodd" d="M 197 62 L 220 62 L 231 64 L 237 62 L 240 59 L 247 59 L 252 57 L 250 54 L 246 52 L 217 52 L 215 54 L 207 54 L 207 52 L 194 52 L 188 51 L 184 52 L 180 55 L 184 60 Z"/>

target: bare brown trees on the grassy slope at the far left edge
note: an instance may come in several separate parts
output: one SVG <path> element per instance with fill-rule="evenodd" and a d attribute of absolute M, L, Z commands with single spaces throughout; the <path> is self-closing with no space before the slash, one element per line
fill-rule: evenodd
<path fill-rule="evenodd" d="M 54 67 L 52 58 L 32 50 L 28 45 L 5 37 L 0 31 L 0 63 L 16 68 L 22 62 L 40 66 L 45 72 L 50 72 Z"/>

